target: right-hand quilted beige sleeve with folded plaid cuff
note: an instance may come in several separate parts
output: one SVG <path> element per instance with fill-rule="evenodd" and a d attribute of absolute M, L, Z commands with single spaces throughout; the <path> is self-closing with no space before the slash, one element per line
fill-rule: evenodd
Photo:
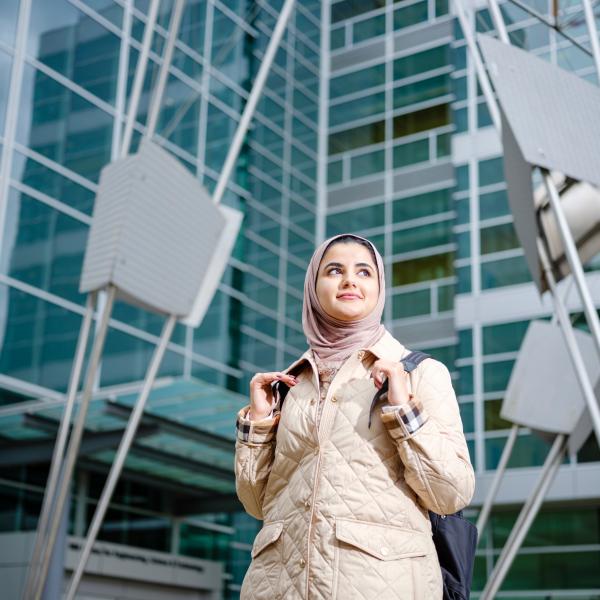
<path fill-rule="evenodd" d="M 420 503 L 449 515 L 471 501 L 475 475 L 450 373 L 433 359 L 422 364 L 410 405 L 382 412 L 381 418 L 398 446 L 406 482 Z"/>

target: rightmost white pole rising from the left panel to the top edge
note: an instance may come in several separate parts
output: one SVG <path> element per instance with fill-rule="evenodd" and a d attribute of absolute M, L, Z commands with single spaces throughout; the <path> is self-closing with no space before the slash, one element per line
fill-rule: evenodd
<path fill-rule="evenodd" d="M 250 126 L 250 121 L 254 115 L 254 110 L 256 109 L 256 105 L 258 104 L 258 100 L 260 99 L 262 90 L 267 80 L 267 75 L 271 69 L 271 64 L 273 63 L 273 59 L 275 58 L 275 54 L 279 48 L 281 38 L 283 37 L 287 22 L 292 14 L 292 10 L 294 9 L 294 4 L 295 0 L 286 0 L 283 8 L 281 9 L 281 13 L 279 14 L 279 18 L 277 19 L 277 24 L 273 30 L 273 36 L 271 37 L 269 45 L 267 46 L 265 57 L 263 58 L 260 69 L 256 75 L 256 80 L 252 86 L 252 91 L 250 92 L 250 96 L 248 97 L 248 101 L 244 107 L 244 112 L 242 113 L 240 123 L 236 129 L 235 135 L 233 136 L 227 157 L 225 158 L 223 170 L 221 171 L 219 181 L 217 182 L 217 186 L 213 194 L 213 202 L 215 204 L 219 204 L 223 199 L 223 195 L 225 194 L 227 182 L 231 177 L 231 172 L 233 171 L 233 167 L 237 161 L 244 138 L 246 137 L 246 132 Z"/>

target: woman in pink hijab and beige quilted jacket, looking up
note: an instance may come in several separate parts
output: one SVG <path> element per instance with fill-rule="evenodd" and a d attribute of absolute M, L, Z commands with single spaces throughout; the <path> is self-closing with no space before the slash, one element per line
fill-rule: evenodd
<path fill-rule="evenodd" d="M 327 240 L 306 273 L 310 349 L 250 383 L 236 487 L 264 525 L 242 600 L 442 598 L 427 511 L 465 507 L 473 469 L 448 370 L 426 359 L 404 372 L 410 351 L 381 324 L 384 301 L 375 247 L 353 235 Z M 277 381 L 290 388 L 282 405 Z"/>

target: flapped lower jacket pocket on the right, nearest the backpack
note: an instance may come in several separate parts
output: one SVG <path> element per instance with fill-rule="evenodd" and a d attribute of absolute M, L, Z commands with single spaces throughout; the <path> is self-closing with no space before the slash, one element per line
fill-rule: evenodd
<path fill-rule="evenodd" d="M 432 600 L 415 586 L 412 564 L 431 553 L 427 534 L 338 518 L 335 538 L 334 598 Z"/>

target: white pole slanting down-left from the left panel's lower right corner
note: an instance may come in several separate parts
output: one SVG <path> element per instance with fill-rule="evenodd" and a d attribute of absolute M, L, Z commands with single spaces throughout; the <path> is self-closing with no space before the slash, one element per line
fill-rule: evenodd
<path fill-rule="evenodd" d="M 115 486 L 117 485 L 117 482 L 121 475 L 123 465 L 125 464 L 125 459 L 127 458 L 127 454 L 129 452 L 129 449 L 131 448 L 131 444 L 133 443 L 135 433 L 144 414 L 146 401 L 148 400 L 148 396 L 150 395 L 150 391 L 152 390 L 152 386 L 154 385 L 156 374 L 158 373 L 158 369 L 162 362 L 169 340 L 171 339 L 171 334 L 173 333 L 173 328 L 175 327 L 176 322 L 177 317 L 175 315 L 170 315 L 164 324 L 163 330 L 160 335 L 159 343 L 154 350 L 152 361 L 150 362 L 148 371 L 146 373 L 144 385 L 142 387 L 142 390 L 140 391 L 138 399 L 136 400 L 135 406 L 133 407 L 131 416 L 129 417 L 127 428 L 125 429 L 125 433 L 123 434 L 123 438 L 121 439 L 121 443 L 119 444 L 119 449 L 117 450 L 117 454 L 111 466 L 110 473 L 106 480 L 106 484 L 104 485 L 104 489 L 102 490 L 100 500 L 98 501 L 96 512 L 94 513 L 94 517 L 92 519 L 92 523 L 90 525 L 90 529 L 88 531 L 83 550 L 81 551 L 81 556 L 79 557 L 77 567 L 75 569 L 75 572 L 73 573 L 73 578 L 71 579 L 69 585 L 66 600 L 74 600 L 75 598 L 75 594 L 77 592 L 77 588 L 79 587 L 79 583 L 81 582 L 85 566 L 90 557 L 90 553 L 92 551 L 94 542 L 98 537 L 100 526 L 102 525 L 104 515 L 106 514 L 106 510 L 108 509 L 108 504 L 110 502 L 110 499 L 112 498 Z"/>

